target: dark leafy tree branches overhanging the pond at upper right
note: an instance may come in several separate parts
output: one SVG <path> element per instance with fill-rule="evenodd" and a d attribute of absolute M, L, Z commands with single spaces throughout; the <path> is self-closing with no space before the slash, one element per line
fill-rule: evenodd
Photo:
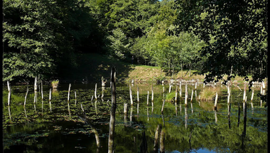
<path fill-rule="evenodd" d="M 192 29 L 207 43 L 201 51 L 201 56 L 207 56 L 202 68 L 203 73 L 209 72 L 207 81 L 224 75 L 247 78 L 248 73 L 254 81 L 267 77 L 267 3 L 177 0 L 179 30 Z"/>

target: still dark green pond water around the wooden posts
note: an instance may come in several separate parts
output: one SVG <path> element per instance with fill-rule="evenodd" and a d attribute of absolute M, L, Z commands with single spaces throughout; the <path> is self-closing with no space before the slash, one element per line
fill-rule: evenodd
<path fill-rule="evenodd" d="M 95 83 L 72 83 L 70 102 L 68 84 L 60 84 L 53 90 L 48 101 L 49 85 L 43 86 L 43 96 L 38 90 L 38 100 L 33 103 L 33 85 L 29 85 L 26 107 L 26 85 L 13 85 L 11 106 L 7 106 L 8 91 L 3 87 L 3 147 L 4 152 L 107 152 L 109 135 L 109 110 L 111 88 Z M 173 85 L 171 93 L 175 94 Z M 139 88 L 139 102 L 137 89 Z M 205 86 L 205 88 L 212 88 Z M 239 90 L 239 88 L 242 90 Z M 227 88 L 219 85 L 220 94 L 217 110 L 212 100 L 199 99 L 204 88 L 188 85 L 188 105 L 185 107 L 185 85 L 182 96 L 174 102 L 168 97 L 169 86 L 153 85 L 153 106 L 151 105 L 152 84 L 131 85 L 134 105 L 131 106 L 129 85 L 117 83 L 117 116 L 115 125 L 115 152 L 140 152 L 145 132 L 148 152 L 153 152 L 156 129 L 159 126 L 165 134 L 165 152 L 267 152 L 267 107 L 261 102 L 260 88 L 247 90 L 247 105 L 243 104 L 243 85 L 232 87 L 227 100 Z M 193 100 L 190 102 L 193 90 Z M 76 98 L 75 98 L 76 92 Z M 149 92 L 149 96 L 148 95 Z M 102 94 L 103 93 L 103 94 Z M 146 105 L 149 97 L 149 105 Z M 161 108 L 164 102 L 163 113 Z M 128 112 L 124 115 L 124 103 Z M 247 112 L 244 113 L 244 107 Z M 80 119 L 82 109 L 92 125 Z M 80 117 L 79 117 L 80 116 Z M 97 148 L 93 127 L 97 130 L 100 146 Z M 158 137 L 158 152 L 160 151 Z"/>

